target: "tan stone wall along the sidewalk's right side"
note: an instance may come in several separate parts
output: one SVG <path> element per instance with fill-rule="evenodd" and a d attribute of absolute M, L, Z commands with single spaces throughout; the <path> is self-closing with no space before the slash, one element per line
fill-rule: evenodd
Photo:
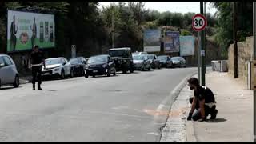
<path fill-rule="evenodd" d="M 245 42 L 238 42 L 238 78 L 247 82 L 248 62 L 253 54 L 253 37 L 247 37 Z M 228 52 L 229 74 L 234 78 L 234 45 L 231 44 Z"/>

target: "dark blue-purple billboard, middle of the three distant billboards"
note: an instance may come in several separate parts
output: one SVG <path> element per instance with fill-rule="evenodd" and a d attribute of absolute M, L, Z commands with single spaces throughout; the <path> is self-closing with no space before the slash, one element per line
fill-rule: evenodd
<path fill-rule="evenodd" d="M 165 53 L 179 52 L 179 32 L 166 31 L 164 38 Z"/>

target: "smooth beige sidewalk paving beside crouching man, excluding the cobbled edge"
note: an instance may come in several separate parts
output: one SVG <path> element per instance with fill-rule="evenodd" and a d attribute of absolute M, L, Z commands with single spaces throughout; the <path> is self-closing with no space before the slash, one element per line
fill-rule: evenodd
<path fill-rule="evenodd" d="M 198 142 L 252 142 L 253 91 L 227 73 L 206 74 L 214 92 L 218 115 L 212 122 L 193 122 Z"/>

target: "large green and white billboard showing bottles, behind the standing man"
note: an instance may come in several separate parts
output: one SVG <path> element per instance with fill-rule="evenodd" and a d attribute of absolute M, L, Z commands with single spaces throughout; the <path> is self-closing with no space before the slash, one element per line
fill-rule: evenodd
<path fill-rule="evenodd" d="M 7 52 L 55 46 L 54 14 L 8 10 Z"/>

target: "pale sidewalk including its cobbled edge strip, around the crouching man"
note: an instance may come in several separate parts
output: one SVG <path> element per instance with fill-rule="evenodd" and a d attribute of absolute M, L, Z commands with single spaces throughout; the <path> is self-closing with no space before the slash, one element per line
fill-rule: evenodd
<path fill-rule="evenodd" d="M 227 73 L 207 71 L 206 86 L 215 95 L 218 115 L 207 122 L 186 121 L 193 90 L 185 86 L 171 106 L 160 142 L 252 142 L 253 91 Z"/>

